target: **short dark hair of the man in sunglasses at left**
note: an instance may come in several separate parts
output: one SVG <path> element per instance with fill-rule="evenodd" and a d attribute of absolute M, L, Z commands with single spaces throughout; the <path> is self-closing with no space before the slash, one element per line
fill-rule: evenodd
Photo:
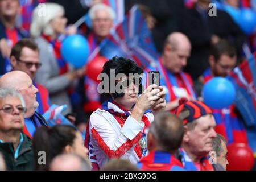
<path fill-rule="evenodd" d="M 32 39 L 21 39 L 19 40 L 11 49 L 11 56 L 14 56 L 16 59 L 19 59 L 22 49 L 24 47 L 30 48 L 33 51 L 38 51 L 38 45 Z"/>

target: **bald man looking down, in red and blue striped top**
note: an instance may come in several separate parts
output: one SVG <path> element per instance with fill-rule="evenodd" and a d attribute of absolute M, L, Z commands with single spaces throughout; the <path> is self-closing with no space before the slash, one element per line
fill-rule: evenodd
<path fill-rule="evenodd" d="M 187 36 L 180 32 L 170 34 L 164 43 L 158 68 L 160 83 L 166 90 L 166 110 L 174 110 L 179 105 L 180 97 L 196 99 L 192 78 L 183 72 L 190 52 L 191 43 Z"/>

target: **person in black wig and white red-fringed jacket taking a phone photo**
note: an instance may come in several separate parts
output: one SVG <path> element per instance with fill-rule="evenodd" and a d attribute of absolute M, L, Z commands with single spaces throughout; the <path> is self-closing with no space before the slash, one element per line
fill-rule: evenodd
<path fill-rule="evenodd" d="M 147 154 L 144 129 L 154 114 L 165 109 L 166 100 L 162 86 L 157 85 L 148 86 L 139 96 L 142 73 L 134 61 L 123 57 L 105 63 L 98 92 L 108 93 L 110 99 L 90 116 L 85 138 L 93 169 L 112 158 L 136 164 Z"/>

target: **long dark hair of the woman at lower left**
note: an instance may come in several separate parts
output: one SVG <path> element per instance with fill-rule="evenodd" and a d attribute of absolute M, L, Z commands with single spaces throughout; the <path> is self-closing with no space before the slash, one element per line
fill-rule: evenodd
<path fill-rule="evenodd" d="M 49 169 L 49 164 L 55 156 L 62 154 L 65 146 L 73 145 L 76 138 L 75 127 L 69 125 L 56 125 L 53 127 L 40 127 L 33 137 L 33 151 L 35 159 L 35 170 Z M 39 164 L 39 152 L 46 153 L 46 164 Z"/>

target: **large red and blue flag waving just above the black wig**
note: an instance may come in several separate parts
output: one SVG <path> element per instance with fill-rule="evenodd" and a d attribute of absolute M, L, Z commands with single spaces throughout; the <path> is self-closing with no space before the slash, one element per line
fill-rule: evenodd
<path fill-rule="evenodd" d="M 90 55 L 93 59 L 97 53 L 111 59 L 123 56 L 133 59 L 144 68 L 155 67 L 158 52 L 152 42 L 151 32 L 137 6 L 133 6 L 121 24 Z"/>

